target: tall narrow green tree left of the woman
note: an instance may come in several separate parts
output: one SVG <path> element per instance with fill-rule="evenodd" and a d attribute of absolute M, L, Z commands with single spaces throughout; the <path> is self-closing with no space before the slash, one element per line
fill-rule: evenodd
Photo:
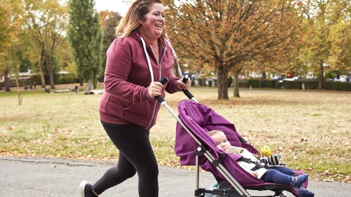
<path fill-rule="evenodd" d="M 86 93 L 93 90 L 101 66 L 102 32 L 94 4 L 93 0 L 70 0 L 68 11 L 67 38 L 77 71 L 88 81 Z"/>

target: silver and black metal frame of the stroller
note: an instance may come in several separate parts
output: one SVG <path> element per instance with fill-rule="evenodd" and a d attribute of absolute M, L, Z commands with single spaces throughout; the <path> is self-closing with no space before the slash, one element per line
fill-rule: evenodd
<path fill-rule="evenodd" d="M 162 81 L 164 80 L 164 81 Z M 161 79 L 161 83 L 166 83 L 166 81 L 168 81 L 168 79 Z M 184 82 L 184 81 L 183 81 Z M 186 81 L 185 81 L 186 82 Z M 183 90 L 183 93 L 185 93 L 185 95 L 187 95 L 187 97 L 192 100 L 193 102 L 197 102 L 197 99 L 188 91 L 188 90 Z M 220 196 L 228 196 L 228 197 L 237 197 L 237 196 L 246 196 L 246 197 L 255 197 L 255 196 L 251 196 L 251 194 L 246 191 L 246 189 L 252 189 L 252 190 L 271 190 L 275 192 L 274 196 L 286 196 L 286 194 L 284 193 L 285 189 L 282 189 L 279 186 L 274 186 L 274 185 L 270 185 L 270 186 L 255 186 L 255 187 L 246 187 L 246 189 L 241 186 L 241 184 L 237 181 L 237 179 L 235 179 L 231 173 L 227 170 L 227 168 L 225 168 L 225 166 L 221 163 L 221 160 L 223 158 L 225 158 L 226 155 L 222 155 L 223 157 L 220 158 L 219 160 L 216 160 L 212 154 L 208 151 L 208 149 L 206 148 L 206 146 L 204 146 L 204 144 L 202 144 L 195 135 L 192 134 L 192 132 L 190 131 L 189 128 L 187 128 L 187 126 L 183 123 L 183 121 L 180 120 L 180 118 L 178 117 L 178 115 L 171 109 L 171 107 L 168 106 L 167 102 L 161 97 L 161 96 L 157 96 L 155 97 L 157 99 L 157 101 L 161 104 L 161 106 L 165 107 L 167 109 L 167 111 L 172 114 L 172 116 L 174 118 L 176 118 L 176 120 L 178 121 L 178 123 L 180 123 L 180 125 L 182 125 L 182 127 L 187 131 L 187 133 L 189 133 L 189 135 L 197 142 L 197 144 L 199 144 L 199 147 L 197 147 L 197 149 L 194 151 L 195 154 L 195 189 L 194 189 L 194 196 L 197 197 L 204 197 L 205 193 L 212 193 L 213 195 L 220 195 Z M 240 139 L 243 140 L 245 142 L 244 139 Z M 227 182 L 221 182 L 218 186 L 218 189 L 213 189 L 213 190 L 206 190 L 206 189 L 201 189 L 199 188 L 199 169 L 200 169 L 200 164 L 199 164 L 199 156 L 204 155 L 208 161 L 210 161 L 212 163 L 212 165 L 214 167 L 216 167 L 216 169 L 225 177 L 225 179 L 227 180 L 227 182 L 229 182 L 233 188 L 230 188 L 229 184 L 227 184 Z M 216 177 L 216 175 L 215 175 Z M 220 177 L 216 177 L 216 179 L 220 179 Z M 289 189 L 289 188 L 288 188 Z M 263 196 L 261 196 L 263 197 Z M 267 196 L 270 197 L 270 196 Z"/>

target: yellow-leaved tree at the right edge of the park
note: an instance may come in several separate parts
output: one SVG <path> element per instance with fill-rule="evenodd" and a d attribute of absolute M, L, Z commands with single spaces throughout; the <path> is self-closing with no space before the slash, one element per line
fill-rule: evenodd
<path fill-rule="evenodd" d="M 303 36 L 301 59 L 324 85 L 324 72 L 350 68 L 350 1 L 312 0 L 305 6 L 309 29 Z"/>

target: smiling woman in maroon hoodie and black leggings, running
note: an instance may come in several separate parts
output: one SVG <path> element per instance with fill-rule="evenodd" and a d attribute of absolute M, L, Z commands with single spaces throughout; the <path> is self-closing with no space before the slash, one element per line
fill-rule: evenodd
<path fill-rule="evenodd" d="M 82 197 L 98 196 L 138 172 L 139 196 L 158 196 L 158 166 L 149 140 L 164 97 L 190 88 L 173 76 L 173 48 L 164 32 L 164 8 L 160 0 L 137 0 L 117 26 L 117 39 L 107 50 L 105 93 L 99 112 L 101 123 L 119 149 L 117 166 L 95 184 L 83 181 Z M 158 81 L 166 76 L 168 83 Z M 135 186 L 137 187 L 137 186 Z"/>

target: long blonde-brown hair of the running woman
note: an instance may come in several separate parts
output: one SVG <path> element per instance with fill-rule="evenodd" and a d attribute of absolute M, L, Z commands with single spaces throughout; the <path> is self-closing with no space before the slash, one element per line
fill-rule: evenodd
<path fill-rule="evenodd" d="M 162 2 L 161 0 L 135 0 L 117 25 L 115 36 L 117 38 L 126 37 L 138 32 L 140 20 L 145 20 L 145 15 L 150 12 L 150 8 L 153 4 L 162 4 Z M 164 29 L 162 30 L 161 36 L 168 39 Z"/>

